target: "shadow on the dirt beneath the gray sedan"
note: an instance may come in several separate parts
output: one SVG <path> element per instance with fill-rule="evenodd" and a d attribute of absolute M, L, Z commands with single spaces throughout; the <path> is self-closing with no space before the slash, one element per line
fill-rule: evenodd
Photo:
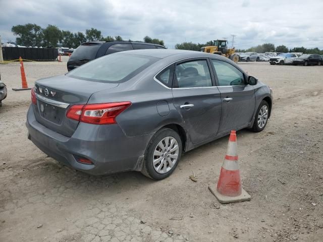
<path fill-rule="evenodd" d="M 239 136 L 252 136 L 253 134 L 253 132 L 248 130 L 239 131 L 237 132 L 238 140 Z M 161 181 L 152 180 L 136 171 L 94 176 L 62 165 L 49 157 L 41 159 L 32 170 L 39 177 L 38 184 L 42 184 L 42 186 L 47 184 L 47 191 L 50 188 L 55 189 L 60 187 L 62 191 L 71 192 L 73 190 L 71 194 L 74 195 L 79 193 L 82 196 L 92 196 L 107 192 L 109 196 L 114 196 L 120 193 L 127 193 L 129 190 L 134 189 L 143 191 L 145 187 L 154 186 L 157 183 L 158 186 L 163 186 L 173 183 L 177 179 L 182 180 L 184 176 L 186 177 L 188 173 L 191 173 L 191 169 L 194 166 L 194 164 L 190 166 L 191 163 L 202 162 L 198 160 L 202 153 L 209 153 L 210 156 L 217 157 L 217 160 L 222 161 L 225 156 L 228 139 L 229 136 L 225 136 L 185 153 L 179 162 L 178 166 L 180 168 L 177 167 L 169 178 Z M 199 163 L 195 164 L 199 165 Z M 35 177 L 34 175 L 33 177 Z"/>

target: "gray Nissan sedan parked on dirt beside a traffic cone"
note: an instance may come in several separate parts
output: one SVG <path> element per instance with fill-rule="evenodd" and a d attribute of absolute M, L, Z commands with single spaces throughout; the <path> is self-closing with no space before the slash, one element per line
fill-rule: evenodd
<path fill-rule="evenodd" d="M 272 102 L 226 57 L 130 50 L 36 81 L 26 125 L 39 149 L 75 169 L 163 179 L 183 152 L 231 130 L 262 131 Z"/>

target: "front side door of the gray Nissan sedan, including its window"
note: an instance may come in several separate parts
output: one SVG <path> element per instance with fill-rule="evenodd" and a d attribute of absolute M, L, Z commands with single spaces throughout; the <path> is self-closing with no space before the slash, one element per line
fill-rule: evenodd
<path fill-rule="evenodd" d="M 210 59 L 222 99 L 218 134 L 249 124 L 255 109 L 253 86 L 247 85 L 242 71 L 221 59 Z"/>

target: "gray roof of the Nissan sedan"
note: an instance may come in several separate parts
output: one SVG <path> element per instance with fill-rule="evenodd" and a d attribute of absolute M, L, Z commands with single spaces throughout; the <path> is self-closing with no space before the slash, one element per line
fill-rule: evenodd
<path fill-rule="evenodd" d="M 135 49 L 135 50 L 126 50 L 122 52 L 117 52 L 118 54 L 137 54 L 145 55 L 156 58 L 166 58 L 170 56 L 177 55 L 178 58 L 187 58 L 187 57 L 217 57 L 217 58 L 226 58 L 219 54 L 210 54 L 201 51 L 193 50 L 182 50 L 182 49 Z"/>

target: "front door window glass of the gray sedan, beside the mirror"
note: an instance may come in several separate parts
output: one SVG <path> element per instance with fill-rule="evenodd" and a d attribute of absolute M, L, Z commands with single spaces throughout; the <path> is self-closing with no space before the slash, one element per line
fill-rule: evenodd
<path fill-rule="evenodd" d="M 219 86 L 245 85 L 243 73 L 231 64 L 217 59 L 212 59 L 211 63 L 216 69 Z"/>

